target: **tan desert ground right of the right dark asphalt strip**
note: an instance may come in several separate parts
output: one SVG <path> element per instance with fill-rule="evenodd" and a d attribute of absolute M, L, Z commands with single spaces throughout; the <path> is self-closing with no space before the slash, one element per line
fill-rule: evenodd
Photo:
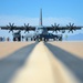
<path fill-rule="evenodd" d="M 83 42 L 70 41 L 70 42 L 50 42 L 50 43 L 83 59 Z"/>

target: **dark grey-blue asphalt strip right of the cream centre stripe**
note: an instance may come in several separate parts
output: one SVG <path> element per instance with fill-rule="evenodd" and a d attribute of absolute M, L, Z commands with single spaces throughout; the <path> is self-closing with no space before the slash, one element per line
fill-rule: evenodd
<path fill-rule="evenodd" d="M 83 83 L 83 59 L 50 43 L 44 44 Z"/>

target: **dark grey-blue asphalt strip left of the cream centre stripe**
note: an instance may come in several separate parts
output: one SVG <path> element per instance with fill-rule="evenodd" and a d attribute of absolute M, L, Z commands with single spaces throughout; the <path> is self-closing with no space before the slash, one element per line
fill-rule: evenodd
<path fill-rule="evenodd" d="M 8 58 L 0 60 L 0 83 L 8 83 L 11 80 L 14 72 L 23 65 L 35 44 L 37 42 L 23 46 Z"/>

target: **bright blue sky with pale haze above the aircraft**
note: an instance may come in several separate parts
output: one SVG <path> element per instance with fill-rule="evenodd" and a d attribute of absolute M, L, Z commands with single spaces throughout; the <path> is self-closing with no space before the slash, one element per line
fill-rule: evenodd
<path fill-rule="evenodd" d="M 40 8 L 43 10 L 44 25 L 54 22 L 61 25 L 69 22 L 83 25 L 83 0 L 0 0 L 0 25 L 9 22 L 17 25 L 23 25 L 24 22 L 38 25 Z M 83 29 L 75 33 L 83 33 Z M 11 33 L 0 31 L 0 35 L 11 37 Z"/>

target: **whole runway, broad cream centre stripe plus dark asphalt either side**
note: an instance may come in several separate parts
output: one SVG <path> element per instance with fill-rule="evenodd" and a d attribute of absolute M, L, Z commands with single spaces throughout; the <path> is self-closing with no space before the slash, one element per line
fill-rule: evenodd
<path fill-rule="evenodd" d="M 37 42 L 0 60 L 0 83 L 83 83 L 83 59 Z"/>

